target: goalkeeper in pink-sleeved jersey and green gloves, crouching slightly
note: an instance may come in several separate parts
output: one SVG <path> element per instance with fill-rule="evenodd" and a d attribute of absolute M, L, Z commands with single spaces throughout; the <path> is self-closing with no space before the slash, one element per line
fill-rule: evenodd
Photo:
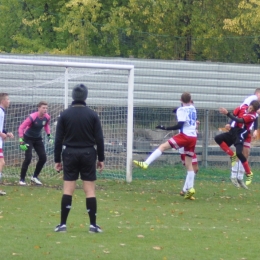
<path fill-rule="evenodd" d="M 31 177 L 31 182 L 42 185 L 38 176 L 47 160 L 41 135 L 42 128 L 44 128 L 48 136 L 49 143 L 53 143 L 53 138 L 50 134 L 50 116 L 47 114 L 48 104 L 45 101 L 41 101 L 37 107 L 38 111 L 30 114 L 22 122 L 18 130 L 20 149 L 25 152 L 25 159 L 22 164 L 19 181 L 19 184 L 23 186 L 26 185 L 25 177 L 32 160 L 32 149 L 34 149 L 38 155 L 38 162 Z"/>

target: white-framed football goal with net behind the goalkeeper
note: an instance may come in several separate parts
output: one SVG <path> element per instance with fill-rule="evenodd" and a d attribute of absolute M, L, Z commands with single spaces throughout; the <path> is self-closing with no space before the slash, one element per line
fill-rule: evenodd
<path fill-rule="evenodd" d="M 39 101 L 47 101 L 55 136 L 57 118 L 70 105 L 72 88 L 79 83 L 88 87 L 87 105 L 98 113 L 103 128 L 106 159 L 102 176 L 132 181 L 134 66 L 11 58 L 0 58 L 0 92 L 7 92 L 11 101 L 5 128 L 15 136 L 4 143 L 5 178 L 20 175 L 24 159 L 18 140 L 21 122 L 37 111 Z M 55 178 L 54 147 L 42 132 L 47 163 L 40 177 Z M 27 177 L 36 162 L 34 153 Z"/>

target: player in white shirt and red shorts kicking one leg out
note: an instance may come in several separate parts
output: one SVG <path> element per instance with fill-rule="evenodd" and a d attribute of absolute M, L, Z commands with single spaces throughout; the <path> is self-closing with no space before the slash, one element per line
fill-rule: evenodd
<path fill-rule="evenodd" d="M 162 155 L 165 150 L 184 147 L 185 153 L 185 167 L 187 169 L 187 176 L 185 181 L 185 199 L 193 198 L 195 193 L 194 177 L 195 173 L 192 167 L 192 156 L 194 155 L 195 145 L 197 142 L 196 119 L 197 112 L 191 101 L 191 95 L 184 92 L 181 95 L 182 106 L 176 111 L 178 124 L 171 127 L 162 125 L 157 126 L 157 129 L 162 130 L 180 130 L 180 132 L 172 136 L 168 141 L 161 144 L 145 162 L 135 161 L 134 163 L 142 169 L 147 169 L 148 166 Z"/>

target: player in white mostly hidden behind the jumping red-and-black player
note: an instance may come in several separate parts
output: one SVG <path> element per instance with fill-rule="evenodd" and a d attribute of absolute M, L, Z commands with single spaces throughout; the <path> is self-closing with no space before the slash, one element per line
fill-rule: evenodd
<path fill-rule="evenodd" d="M 254 95 L 251 95 L 247 97 L 241 105 L 250 105 L 250 103 L 254 100 L 257 100 L 260 102 L 260 88 L 257 88 L 254 92 Z M 260 110 L 257 111 L 257 113 L 260 113 Z M 258 128 L 258 118 L 255 121 L 255 124 L 253 125 L 253 128 L 251 130 L 253 131 L 253 138 L 256 138 L 257 136 L 257 128 Z M 230 124 L 227 124 L 225 126 L 227 130 L 230 128 Z M 251 147 L 251 133 L 247 136 L 247 138 L 244 141 L 244 146 L 243 146 L 243 154 L 244 156 L 248 159 L 249 154 L 250 154 L 250 147 Z M 242 163 L 237 160 L 234 166 L 231 167 L 231 182 L 236 186 L 236 187 L 242 187 L 244 189 L 248 189 L 248 187 L 244 183 L 244 173 L 245 169 L 242 165 Z"/>

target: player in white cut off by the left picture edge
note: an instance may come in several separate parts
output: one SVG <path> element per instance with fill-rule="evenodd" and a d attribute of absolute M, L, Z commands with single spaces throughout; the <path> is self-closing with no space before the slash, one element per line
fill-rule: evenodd
<path fill-rule="evenodd" d="M 13 134 L 7 132 L 4 129 L 4 119 L 5 119 L 5 109 L 9 107 L 10 100 L 7 93 L 0 93 L 0 179 L 2 178 L 2 170 L 5 165 L 4 152 L 3 152 L 3 142 L 6 138 L 13 138 Z M 0 195 L 5 195 L 6 193 L 0 190 Z"/>

